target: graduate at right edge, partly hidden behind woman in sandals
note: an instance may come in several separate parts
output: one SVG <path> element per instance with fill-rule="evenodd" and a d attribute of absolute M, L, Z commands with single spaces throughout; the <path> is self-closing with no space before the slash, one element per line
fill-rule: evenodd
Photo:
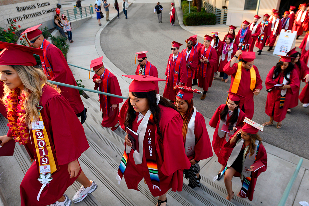
<path fill-rule="evenodd" d="M 290 108 L 296 107 L 298 105 L 298 94 L 299 94 L 300 82 L 301 81 L 309 82 L 309 68 L 305 62 L 299 59 L 300 53 L 297 52 L 295 48 L 290 50 L 286 55 L 294 58 L 294 59 L 293 58 L 291 59 L 291 63 L 294 65 L 294 70 L 297 71 L 297 74 L 299 77 L 299 85 L 298 85 L 299 87 L 298 87 L 298 91 L 296 91 L 291 97 L 291 101 L 290 101 L 290 105 L 289 105 L 287 113 L 291 112 Z"/>

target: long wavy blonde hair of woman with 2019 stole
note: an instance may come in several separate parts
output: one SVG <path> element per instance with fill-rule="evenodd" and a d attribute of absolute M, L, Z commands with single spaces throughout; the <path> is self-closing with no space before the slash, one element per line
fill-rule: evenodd
<path fill-rule="evenodd" d="M 18 74 L 18 77 L 23 82 L 23 93 L 26 96 L 24 102 L 24 108 L 26 110 L 26 115 L 22 120 L 31 127 L 31 120 L 38 120 L 39 114 L 37 111 L 37 105 L 40 101 L 42 95 L 42 87 L 44 84 L 47 84 L 53 87 L 57 92 L 60 93 L 60 90 L 57 87 L 47 81 L 47 77 L 41 69 L 34 68 L 33 66 L 23 66 L 23 65 L 10 65 Z M 10 94 L 12 90 L 4 85 L 4 95 L 2 97 L 2 103 L 5 104 L 6 96 Z"/>

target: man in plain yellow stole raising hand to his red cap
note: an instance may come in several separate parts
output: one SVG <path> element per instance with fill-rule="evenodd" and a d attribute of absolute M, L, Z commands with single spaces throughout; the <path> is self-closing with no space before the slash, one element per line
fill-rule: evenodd
<path fill-rule="evenodd" d="M 242 57 L 240 58 L 239 55 Z M 252 119 L 254 114 L 253 95 L 260 94 L 260 90 L 263 88 L 259 70 L 253 65 L 255 53 L 242 53 L 238 50 L 235 56 L 225 65 L 223 71 L 227 75 L 231 75 L 230 91 L 246 97 L 246 99 L 240 97 L 239 108 L 245 112 L 249 119 Z M 241 61 L 235 63 L 238 57 Z"/>

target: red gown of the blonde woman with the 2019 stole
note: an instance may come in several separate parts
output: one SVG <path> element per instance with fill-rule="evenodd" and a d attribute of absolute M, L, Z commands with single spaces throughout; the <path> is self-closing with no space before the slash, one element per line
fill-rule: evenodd
<path fill-rule="evenodd" d="M 77 179 L 77 177 L 70 179 L 68 163 L 79 158 L 89 148 L 84 128 L 68 100 L 48 85 L 45 85 L 42 90 L 41 112 L 44 125 L 53 139 L 60 171 L 52 175 L 53 180 L 49 183 L 49 187 L 43 189 L 40 201 L 37 201 L 36 197 L 42 184 L 37 180 L 40 174 L 34 161 L 20 184 L 21 206 L 45 206 L 59 200 Z M 29 143 L 25 146 L 32 147 Z M 33 148 L 34 146 L 30 152 L 35 153 Z M 82 169 L 79 170 L 79 174 L 81 171 Z M 43 197 L 45 191 L 47 194 Z"/>

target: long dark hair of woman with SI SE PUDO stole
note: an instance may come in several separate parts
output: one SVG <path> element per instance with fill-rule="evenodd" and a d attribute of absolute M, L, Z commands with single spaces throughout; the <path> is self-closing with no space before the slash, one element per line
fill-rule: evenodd
<path fill-rule="evenodd" d="M 155 122 L 155 125 L 157 127 L 157 133 L 160 136 L 160 141 L 163 141 L 163 137 L 162 137 L 162 133 L 160 130 L 160 126 L 159 126 L 159 122 L 160 122 L 160 118 L 161 118 L 161 109 L 160 107 L 157 105 L 157 91 L 153 90 L 153 91 L 148 91 L 148 92 L 131 92 L 131 94 L 134 97 L 137 97 L 139 99 L 144 99 L 146 98 L 149 104 L 149 109 L 152 113 L 153 116 L 153 120 Z M 130 103 L 130 101 L 128 101 L 128 103 Z M 170 107 L 172 109 L 174 109 L 175 111 L 177 111 L 176 106 L 174 104 L 172 104 L 171 102 L 167 101 L 167 99 L 165 99 L 164 97 L 160 98 L 159 104 L 165 107 Z M 178 112 L 178 111 L 177 111 Z M 179 112 L 178 112 L 179 113 Z M 136 118 L 135 115 L 135 111 L 134 108 L 129 104 L 129 108 L 128 108 L 128 112 L 127 112 L 127 118 L 125 120 L 125 126 L 128 128 L 132 128 L 132 123 Z"/>

